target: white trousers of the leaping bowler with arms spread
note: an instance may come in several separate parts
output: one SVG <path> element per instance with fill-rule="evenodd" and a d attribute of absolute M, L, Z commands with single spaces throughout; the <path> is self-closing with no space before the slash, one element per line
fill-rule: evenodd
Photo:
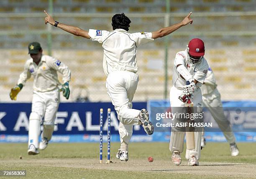
<path fill-rule="evenodd" d="M 133 134 L 133 125 L 138 125 L 140 110 L 132 109 L 138 81 L 138 75 L 129 71 L 114 71 L 106 80 L 108 96 L 115 106 L 120 121 L 118 131 L 121 146 L 122 143 L 128 145 Z"/>

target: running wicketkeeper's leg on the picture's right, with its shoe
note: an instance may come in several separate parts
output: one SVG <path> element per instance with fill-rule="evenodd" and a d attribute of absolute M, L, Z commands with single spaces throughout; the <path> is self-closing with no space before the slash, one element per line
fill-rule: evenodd
<path fill-rule="evenodd" d="M 41 142 L 39 144 L 39 149 L 44 150 L 48 146 L 48 142 L 51 140 L 52 134 L 54 132 L 54 122 L 56 118 L 56 113 L 59 108 L 59 91 L 54 90 L 44 93 L 46 98 L 46 108 L 44 115 L 44 128 L 41 134 Z"/>

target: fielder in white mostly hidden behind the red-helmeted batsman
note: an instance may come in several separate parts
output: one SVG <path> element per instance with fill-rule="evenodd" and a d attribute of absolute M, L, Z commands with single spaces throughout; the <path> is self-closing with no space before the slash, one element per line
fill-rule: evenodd
<path fill-rule="evenodd" d="M 226 140 L 230 144 L 231 156 L 237 156 L 239 154 L 239 150 L 236 146 L 236 138 L 231 129 L 230 121 L 225 117 L 220 93 L 217 89 L 216 80 L 214 77 L 214 73 L 211 68 L 208 69 L 208 73 L 206 75 L 205 81 L 201 87 L 202 90 L 202 105 L 206 107 L 207 110 L 210 111 L 212 117 L 217 122 L 220 130 L 223 132 Z M 203 132 L 204 134 L 204 132 Z M 206 140 L 202 134 L 202 142 L 201 146 L 205 147 Z"/>

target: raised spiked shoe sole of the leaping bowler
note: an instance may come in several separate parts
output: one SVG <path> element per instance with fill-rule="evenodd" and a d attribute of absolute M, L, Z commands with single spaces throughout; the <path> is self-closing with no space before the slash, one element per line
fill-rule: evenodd
<path fill-rule="evenodd" d="M 141 122 L 141 126 L 148 135 L 152 135 L 154 133 L 154 126 L 151 121 L 149 121 L 149 115 L 146 109 L 141 109 L 139 114 L 139 121 Z"/>

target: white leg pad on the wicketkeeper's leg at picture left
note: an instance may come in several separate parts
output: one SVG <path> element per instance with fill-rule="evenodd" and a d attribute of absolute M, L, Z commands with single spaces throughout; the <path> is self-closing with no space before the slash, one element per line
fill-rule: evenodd
<path fill-rule="evenodd" d="M 36 112 L 31 112 L 29 116 L 29 131 L 28 131 L 28 148 L 33 144 L 36 149 L 39 147 L 41 117 Z"/>

